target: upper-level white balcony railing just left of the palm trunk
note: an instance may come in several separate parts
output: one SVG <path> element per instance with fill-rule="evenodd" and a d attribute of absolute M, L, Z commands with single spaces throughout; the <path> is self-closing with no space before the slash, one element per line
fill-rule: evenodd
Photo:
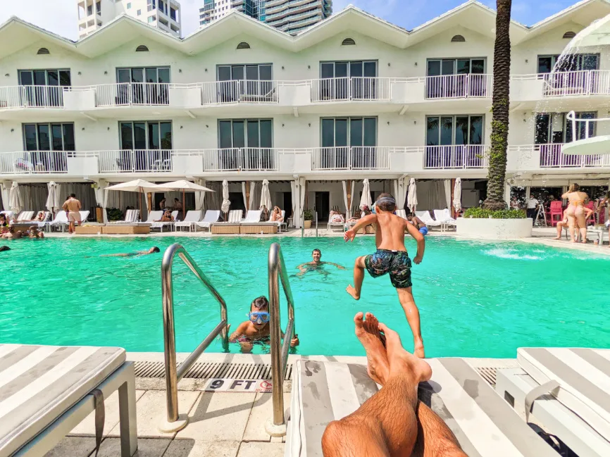
<path fill-rule="evenodd" d="M 427 99 L 465 99 L 492 96 L 493 75 L 466 74 L 425 77 Z"/>

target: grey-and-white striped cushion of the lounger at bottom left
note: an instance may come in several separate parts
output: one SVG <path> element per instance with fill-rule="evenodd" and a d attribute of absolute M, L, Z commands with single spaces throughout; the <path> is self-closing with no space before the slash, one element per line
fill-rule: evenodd
<path fill-rule="evenodd" d="M 10 456 L 125 362 L 125 349 L 0 344 L 0 455 Z"/>

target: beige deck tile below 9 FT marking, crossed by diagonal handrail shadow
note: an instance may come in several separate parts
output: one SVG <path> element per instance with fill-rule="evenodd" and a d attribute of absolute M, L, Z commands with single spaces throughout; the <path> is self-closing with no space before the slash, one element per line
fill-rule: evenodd
<path fill-rule="evenodd" d="M 176 439 L 241 441 L 256 394 L 202 392 Z"/>

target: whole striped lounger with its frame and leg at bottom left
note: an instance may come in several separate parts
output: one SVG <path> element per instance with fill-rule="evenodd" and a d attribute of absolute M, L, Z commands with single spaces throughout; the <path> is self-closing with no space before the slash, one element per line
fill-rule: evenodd
<path fill-rule="evenodd" d="M 135 372 L 125 349 L 0 344 L 0 456 L 44 456 L 118 390 L 121 457 L 137 450 Z"/>

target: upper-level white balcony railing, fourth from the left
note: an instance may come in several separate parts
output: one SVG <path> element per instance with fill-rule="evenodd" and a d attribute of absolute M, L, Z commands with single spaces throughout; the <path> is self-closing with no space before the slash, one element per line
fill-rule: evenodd
<path fill-rule="evenodd" d="M 311 101 L 389 101 L 392 94 L 387 77 L 332 77 L 311 80 Z"/>

